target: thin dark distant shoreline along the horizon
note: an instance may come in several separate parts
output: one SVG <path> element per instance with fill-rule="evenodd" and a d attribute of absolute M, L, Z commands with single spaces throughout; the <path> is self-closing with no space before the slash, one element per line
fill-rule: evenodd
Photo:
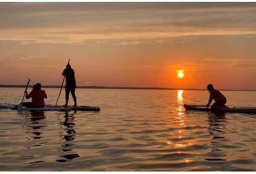
<path fill-rule="evenodd" d="M 9 88 L 25 88 L 26 85 L 0 85 L 1 87 Z M 28 85 L 32 88 L 32 85 Z M 60 85 L 43 85 L 43 88 L 58 88 L 61 89 Z M 162 88 L 162 87 L 103 87 L 103 86 L 77 86 L 77 89 L 136 89 L 136 90 L 205 90 L 205 89 L 175 89 L 175 88 Z M 235 90 L 235 89 L 220 89 L 220 90 Z M 240 90 L 236 91 L 256 91 L 256 90 Z"/>

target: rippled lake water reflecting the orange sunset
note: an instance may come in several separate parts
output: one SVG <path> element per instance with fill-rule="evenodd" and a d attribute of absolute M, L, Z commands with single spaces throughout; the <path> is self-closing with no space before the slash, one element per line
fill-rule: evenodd
<path fill-rule="evenodd" d="M 19 104 L 23 90 L 0 88 L 0 103 Z M 55 105 L 59 89 L 45 90 Z M 222 92 L 228 106 L 256 106 L 256 92 Z M 0 109 L 1 171 L 256 171 L 256 114 L 185 111 L 207 104 L 206 90 L 76 94 L 101 112 Z"/>

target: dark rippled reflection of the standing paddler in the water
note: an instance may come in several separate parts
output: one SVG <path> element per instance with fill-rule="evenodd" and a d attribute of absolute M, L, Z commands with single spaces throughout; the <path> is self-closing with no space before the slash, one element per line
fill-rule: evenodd
<path fill-rule="evenodd" d="M 62 144 L 62 151 L 63 152 L 69 152 L 69 151 L 73 151 L 73 149 L 67 148 L 67 147 L 71 147 L 74 146 L 74 143 L 72 143 L 71 141 L 75 140 L 75 129 L 74 129 L 74 116 L 73 114 L 70 114 L 66 112 L 65 114 L 65 120 L 63 122 L 61 122 L 61 125 L 64 125 L 66 127 L 66 135 L 61 135 L 62 139 L 65 140 L 66 142 L 64 142 L 64 144 Z M 64 154 L 60 157 L 63 157 L 65 159 L 57 159 L 57 162 L 69 162 L 70 160 L 79 157 L 79 154 Z"/>

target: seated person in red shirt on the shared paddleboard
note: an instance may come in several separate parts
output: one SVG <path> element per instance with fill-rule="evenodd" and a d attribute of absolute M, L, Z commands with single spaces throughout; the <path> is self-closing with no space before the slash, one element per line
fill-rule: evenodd
<path fill-rule="evenodd" d="M 33 86 L 32 92 L 28 94 L 25 91 L 26 98 L 32 98 L 32 102 L 24 102 L 22 106 L 27 108 L 43 108 L 45 107 L 45 98 L 47 98 L 45 90 L 41 90 L 41 84 L 37 83 Z"/>

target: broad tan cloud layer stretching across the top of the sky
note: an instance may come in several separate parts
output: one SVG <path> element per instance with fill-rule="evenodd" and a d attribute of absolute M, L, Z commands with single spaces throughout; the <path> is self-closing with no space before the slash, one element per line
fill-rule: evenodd
<path fill-rule="evenodd" d="M 250 3 L 1 3 L 0 40 L 20 44 L 121 45 L 206 35 L 255 36 Z M 146 41 L 147 40 L 147 41 Z M 181 41 L 181 40 L 179 40 Z M 186 42 L 186 40 L 184 40 Z"/>

